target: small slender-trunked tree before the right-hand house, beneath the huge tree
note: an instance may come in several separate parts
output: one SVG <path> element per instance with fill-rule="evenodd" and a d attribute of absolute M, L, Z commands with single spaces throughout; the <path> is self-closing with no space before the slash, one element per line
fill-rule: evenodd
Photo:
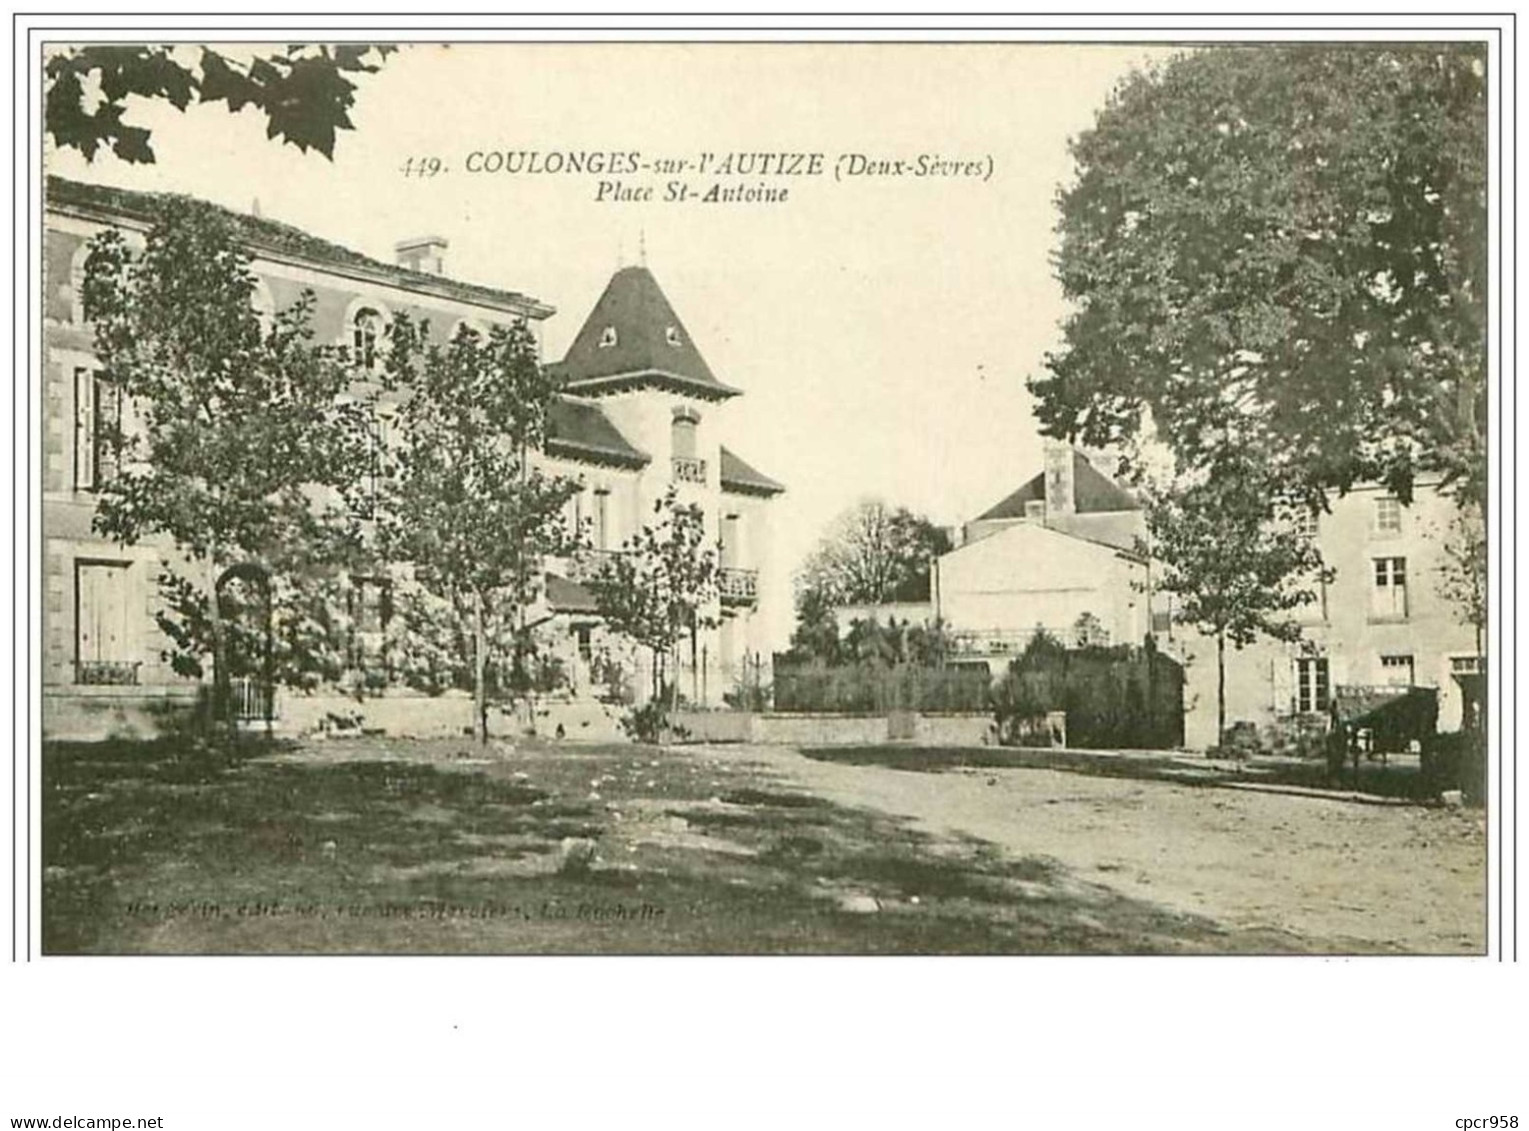
<path fill-rule="evenodd" d="M 1260 634 L 1297 640 L 1290 616 L 1332 579 L 1310 540 L 1289 521 L 1268 472 L 1242 460 L 1167 491 L 1145 492 L 1156 584 L 1173 595 L 1173 619 L 1216 637 L 1216 734 L 1226 734 L 1226 645 Z"/>

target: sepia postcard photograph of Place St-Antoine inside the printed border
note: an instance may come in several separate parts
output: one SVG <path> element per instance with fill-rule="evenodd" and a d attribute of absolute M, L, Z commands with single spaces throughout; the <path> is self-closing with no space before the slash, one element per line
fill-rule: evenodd
<path fill-rule="evenodd" d="M 1500 948 L 1492 58 L 50 35 L 38 954 Z"/>

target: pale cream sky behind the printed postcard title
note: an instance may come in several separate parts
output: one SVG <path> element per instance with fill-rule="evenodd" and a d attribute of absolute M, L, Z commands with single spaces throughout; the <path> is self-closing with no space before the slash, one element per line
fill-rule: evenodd
<path fill-rule="evenodd" d="M 391 261 L 450 240 L 446 274 L 557 307 L 563 356 L 621 264 L 645 255 L 691 339 L 743 390 L 723 442 L 787 486 L 787 575 L 864 498 L 940 524 L 1040 471 L 1026 378 L 1066 313 L 1052 278 L 1069 138 L 1162 57 L 1093 44 L 414 44 L 358 79 L 333 160 L 265 136 L 254 110 L 135 102 L 154 165 L 49 154 L 50 173 L 177 191 Z M 469 171 L 471 154 L 639 151 L 699 162 L 821 153 L 824 174 L 624 177 Z M 852 154 L 974 162 L 979 176 L 833 176 Z M 405 176 L 405 162 L 445 171 Z M 494 159 L 488 164 L 492 165 Z M 653 200 L 596 200 L 601 180 Z M 777 203 L 662 200 L 668 180 L 787 190 Z M 789 608 L 778 634 L 789 633 Z"/>

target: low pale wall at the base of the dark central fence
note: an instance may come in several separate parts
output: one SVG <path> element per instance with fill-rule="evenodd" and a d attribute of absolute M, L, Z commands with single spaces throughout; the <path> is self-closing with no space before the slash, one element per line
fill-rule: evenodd
<path fill-rule="evenodd" d="M 904 724 L 907 715 L 902 717 Z M 913 715 L 913 732 L 905 726 L 894 737 L 888 715 L 830 714 L 749 714 L 746 711 L 679 711 L 676 726 L 691 743 L 758 743 L 763 746 L 875 746 L 887 741 L 913 741 L 940 746 L 985 746 L 992 743 L 992 718 L 980 714 Z"/>

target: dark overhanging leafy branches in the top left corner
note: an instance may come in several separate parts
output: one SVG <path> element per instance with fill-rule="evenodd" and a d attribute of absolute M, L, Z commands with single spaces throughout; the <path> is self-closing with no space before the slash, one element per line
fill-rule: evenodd
<path fill-rule="evenodd" d="M 352 128 L 356 84 L 347 76 L 376 72 L 393 50 L 294 46 L 239 60 L 211 47 L 69 47 L 43 69 L 43 119 L 55 145 L 87 160 L 109 147 L 122 160 L 151 164 L 150 131 L 124 121 L 128 98 L 164 99 L 177 110 L 193 101 L 225 102 L 229 112 L 252 105 L 268 119 L 268 138 L 333 159 L 335 133 Z"/>

